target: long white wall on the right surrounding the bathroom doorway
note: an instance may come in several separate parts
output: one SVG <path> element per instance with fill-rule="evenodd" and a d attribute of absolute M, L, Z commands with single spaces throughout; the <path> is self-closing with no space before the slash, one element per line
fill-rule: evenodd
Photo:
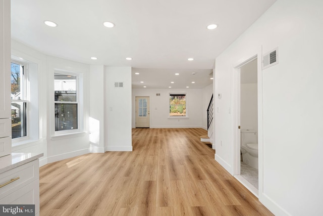
<path fill-rule="evenodd" d="M 259 200 L 275 215 L 323 215 L 322 10 L 279 0 L 216 59 L 216 160 L 233 173 L 233 67 L 279 47 L 279 64 L 258 78 Z"/>

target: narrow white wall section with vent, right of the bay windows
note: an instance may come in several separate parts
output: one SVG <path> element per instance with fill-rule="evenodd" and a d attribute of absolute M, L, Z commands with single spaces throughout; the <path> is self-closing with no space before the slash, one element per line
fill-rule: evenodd
<path fill-rule="evenodd" d="M 131 67 L 104 67 L 106 151 L 132 151 Z M 115 88 L 115 82 L 124 82 Z"/>

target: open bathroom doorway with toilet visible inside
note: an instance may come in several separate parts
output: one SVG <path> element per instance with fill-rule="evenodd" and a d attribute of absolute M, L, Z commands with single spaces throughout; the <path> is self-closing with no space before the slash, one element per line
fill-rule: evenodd
<path fill-rule="evenodd" d="M 234 176 L 258 196 L 258 58 L 235 67 L 235 168 Z"/>

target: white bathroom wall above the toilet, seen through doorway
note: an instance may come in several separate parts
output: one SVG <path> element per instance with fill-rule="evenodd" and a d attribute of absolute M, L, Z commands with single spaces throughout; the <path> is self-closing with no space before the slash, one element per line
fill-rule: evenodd
<path fill-rule="evenodd" d="M 258 131 L 257 84 L 241 83 L 241 129 Z"/>

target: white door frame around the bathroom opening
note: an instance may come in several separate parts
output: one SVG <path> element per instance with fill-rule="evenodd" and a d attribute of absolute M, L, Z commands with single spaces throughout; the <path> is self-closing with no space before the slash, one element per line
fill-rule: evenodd
<path fill-rule="evenodd" d="M 240 176 L 240 68 L 257 58 L 257 105 L 258 105 L 258 194 L 263 194 L 263 79 L 262 79 L 262 46 L 258 53 L 243 58 L 233 65 L 232 73 L 232 138 L 233 138 L 233 175 Z M 237 178 L 237 177 L 236 177 Z M 240 178 L 237 178 L 240 181 Z M 243 185 L 244 182 L 241 181 Z M 245 185 L 246 186 L 246 185 Z M 247 186 L 246 186 L 247 187 Z M 248 187 L 247 187 L 248 188 Z M 251 191 L 252 192 L 252 191 Z"/>

